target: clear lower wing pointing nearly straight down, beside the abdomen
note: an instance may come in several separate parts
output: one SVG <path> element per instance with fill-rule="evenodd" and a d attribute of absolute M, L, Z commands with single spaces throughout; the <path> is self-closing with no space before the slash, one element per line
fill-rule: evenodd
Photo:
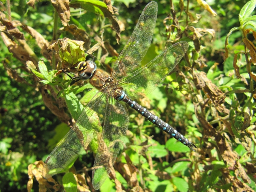
<path fill-rule="evenodd" d="M 93 187 L 99 189 L 105 182 L 116 160 L 128 129 L 129 116 L 124 103 L 107 98 L 103 132 L 94 161 Z"/>

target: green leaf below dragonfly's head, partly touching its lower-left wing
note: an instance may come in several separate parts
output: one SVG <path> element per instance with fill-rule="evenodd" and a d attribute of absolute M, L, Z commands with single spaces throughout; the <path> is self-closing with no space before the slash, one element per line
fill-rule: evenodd
<path fill-rule="evenodd" d="M 70 113 L 74 119 L 78 119 L 81 113 L 84 111 L 83 105 L 79 102 L 76 95 L 71 92 L 64 95 L 67 102 L 67 108 L 70 110 Z"/>

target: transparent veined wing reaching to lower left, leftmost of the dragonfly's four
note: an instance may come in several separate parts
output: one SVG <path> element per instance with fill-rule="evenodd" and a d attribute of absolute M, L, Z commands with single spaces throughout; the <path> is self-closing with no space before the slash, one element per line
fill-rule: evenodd
<path fill-rule="evenodd" d="M 44 178 L 52 177 L 60 172 L 87 148 L 103 121 L 103 118 L 100 118 L 98 114 L 104 111 L 102 105 L 104 95 L 99 92 L 93 97 L 73 128 L 54 148 L 45 162 Z"/>

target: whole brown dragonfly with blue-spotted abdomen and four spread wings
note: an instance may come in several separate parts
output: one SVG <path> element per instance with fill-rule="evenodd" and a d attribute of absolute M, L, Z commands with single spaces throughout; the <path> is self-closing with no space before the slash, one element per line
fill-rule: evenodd
<path fill-rule="evenodd" d="M 125 104 L 195 151 L 197 147 L 193 143 L 134 101 L 159 86 L 189 47 L 184 41 L 176 43 L 140 67 L 140 61 L 151 44 L 156 19 L 157 3 L 152 1 L 143 9 L 134 32 L 115 62 L 111 74 L 97 69 L 93 61 L 82 61 L 78 64 L 78 80 L 89 81 L 98 89 L 98 93 L 93 96 L 73 128 L 47 158 L 43 169 L 44 178 L 60 172 L 87 149 L 96 137 L 95 130 L 102 126 L 92 173 L 93 187 L 99 189 L 108 177 L 125 140 L 129 123 Z"/>

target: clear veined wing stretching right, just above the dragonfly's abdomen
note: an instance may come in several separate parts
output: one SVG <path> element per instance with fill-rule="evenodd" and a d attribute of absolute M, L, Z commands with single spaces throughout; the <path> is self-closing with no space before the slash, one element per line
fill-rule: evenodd
<path fill-rule="evenodd" d="M 119 85 L 131 99 L 151 93 L 179 63 L 189 44 L 181 41 L 172 45 L 139 70 L 122 79 Z"/>

